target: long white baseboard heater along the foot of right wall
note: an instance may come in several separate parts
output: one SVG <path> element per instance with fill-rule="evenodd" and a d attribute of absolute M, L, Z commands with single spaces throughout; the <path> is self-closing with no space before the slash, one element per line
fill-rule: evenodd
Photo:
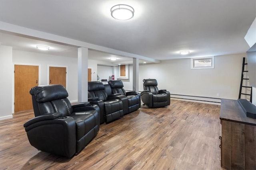
<path fill-rule="evenodd" d="M 183 94 L 170 94 L 171 98 L 176 99 L 186 99 L 186 100 L 195 100 L 201 102 L 213 102 L 220 104 L 220 98 L 211 98 L 211 97 L 203 97 L 203 96 L 190 96 Z"/>

